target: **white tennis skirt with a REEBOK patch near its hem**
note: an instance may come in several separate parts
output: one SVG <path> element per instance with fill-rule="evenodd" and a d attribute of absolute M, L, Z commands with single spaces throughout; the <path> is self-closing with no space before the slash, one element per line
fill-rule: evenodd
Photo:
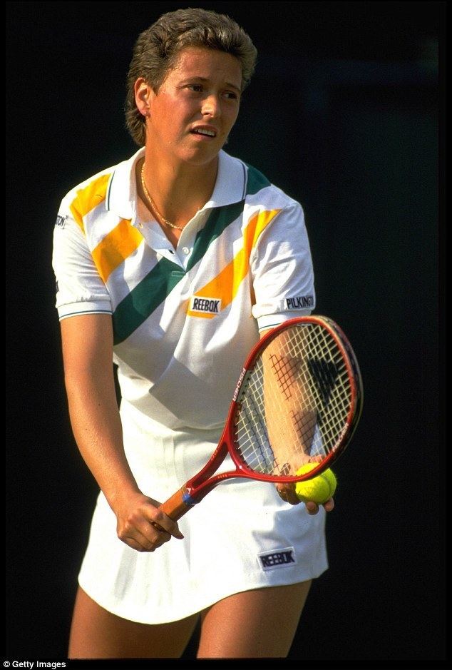
<path fill-rule="evenodd" d="M 205 465 L 221 433 L 168 430 L 125 402 L 121 418 L 138 485 L 160 502 Z M 232 462 L 221 469 L 233 469 Z M 99 494 L 78 578 L 83 591 L 124 619 L 162 624 L 235 593 L 319 577 L 328 567 L 323 507 L 310 516 L 267 482 L 222 482 L 178 525 L 184 539 L 137 552 L 118 539 L 115 514 Z"/>

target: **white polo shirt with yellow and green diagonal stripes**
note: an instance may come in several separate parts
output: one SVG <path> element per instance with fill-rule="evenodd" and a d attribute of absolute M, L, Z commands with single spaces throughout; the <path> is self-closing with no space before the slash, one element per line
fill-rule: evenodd
<path fill-rule="evenodd" d="M 135 163 L 63 199 L 54 233 L 61 319 L 113 315 L 123 399 L 170 429 L 220 427 L 259 335 L 314 308 L 301 205 L 220 152 L 210 201 L 173 248 L 137 196 Z"/>

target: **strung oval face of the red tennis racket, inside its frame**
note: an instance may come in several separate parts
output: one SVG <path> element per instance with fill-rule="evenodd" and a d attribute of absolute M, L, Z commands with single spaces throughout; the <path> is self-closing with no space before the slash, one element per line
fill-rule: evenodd
<path fill-rule="evenodd" d="M 236 445 L 247 467 L 293 475 L 304 462 L 322 460 L 346 426 L 351 395 L 329 330 L 318 324 L 283 330 L 247 372 L 237 398 Z"/>

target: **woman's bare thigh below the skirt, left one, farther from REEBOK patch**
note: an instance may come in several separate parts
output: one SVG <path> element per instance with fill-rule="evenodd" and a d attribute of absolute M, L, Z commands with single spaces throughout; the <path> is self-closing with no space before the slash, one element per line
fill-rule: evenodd
<path fill-rule="evenodd" d="M 121 619 L 78 589 L 73 612 L 70 659 L 175 659 L 187 646 L 198 615 L 150 626 Z"/>

